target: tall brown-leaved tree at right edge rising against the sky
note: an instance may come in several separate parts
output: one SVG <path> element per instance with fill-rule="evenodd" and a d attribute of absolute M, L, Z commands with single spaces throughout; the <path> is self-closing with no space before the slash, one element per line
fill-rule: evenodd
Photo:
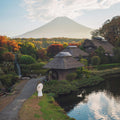
<path fill-rule="evenodd" d="M 94 34 L 99 34 L 111 44 L 116 45 L 116 42 L 120 41 L 120 16 L 107 20 L 99 31 L 94 31 Z"/>

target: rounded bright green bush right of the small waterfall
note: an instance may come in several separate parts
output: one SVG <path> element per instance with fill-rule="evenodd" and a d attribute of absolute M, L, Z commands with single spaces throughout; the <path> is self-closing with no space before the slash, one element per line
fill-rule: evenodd
<path fill-rule="evenodd" d="M 32 63 L 35 63 L 35 59 L 29 55 L 22 55 L 19 58 L 19 63 L 20 64 L 32 64 Z"/>

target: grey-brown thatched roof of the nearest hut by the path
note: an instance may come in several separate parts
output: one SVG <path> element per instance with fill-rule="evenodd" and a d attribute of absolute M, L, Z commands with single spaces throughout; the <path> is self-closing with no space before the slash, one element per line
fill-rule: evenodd
<path fill-rule="evenodd" d="M 75 60 L 69 52 L 60 52 L 54 57 L 52 61 L 46 64 L 43 68 L 73 69 L 82 66 L 84 65 Z"/>

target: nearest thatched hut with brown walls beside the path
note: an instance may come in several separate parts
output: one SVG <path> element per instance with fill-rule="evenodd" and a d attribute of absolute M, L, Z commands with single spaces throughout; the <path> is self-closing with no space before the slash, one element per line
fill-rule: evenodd
<path fill-rule="evenodd" d="M 76 68 L 83 66 L 69 52 L 60 52 L 43 68 L 49 69 L 48 80 L 65 80 L 67 74 L 75 72 Z"/>

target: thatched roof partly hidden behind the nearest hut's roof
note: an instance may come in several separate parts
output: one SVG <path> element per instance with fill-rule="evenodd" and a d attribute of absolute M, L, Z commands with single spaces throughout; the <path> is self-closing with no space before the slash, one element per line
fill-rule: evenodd
<path fill-rule="evenodd" d="M 77 46 L 68 46 L 62 52 L 69 52 L 72 57 L 88 56 L 89 54 L 77 48 Z"/>

